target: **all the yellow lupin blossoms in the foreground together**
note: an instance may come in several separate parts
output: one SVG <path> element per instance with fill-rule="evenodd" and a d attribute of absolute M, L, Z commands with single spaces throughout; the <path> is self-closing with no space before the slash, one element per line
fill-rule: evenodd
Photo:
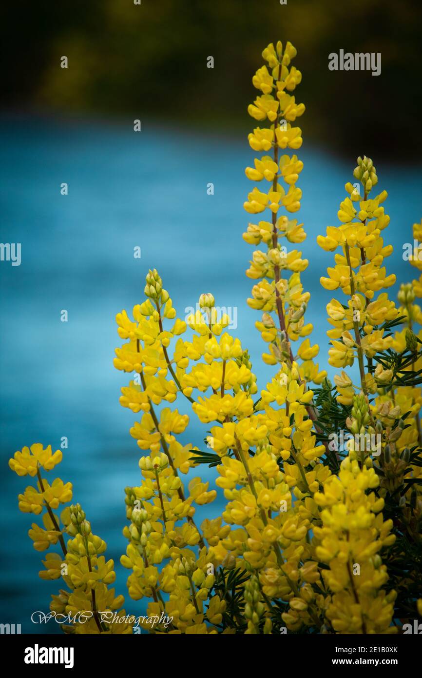
<path fill-rule="evenodd" d="M 308 260 L 282 245 L 305 239 L 303 224 L 290 218 L 300 208 L 303 163 L 280 153 L 302 144 L 301 129 L 292 126 L 305 111 L 291 94 L 301 82 L 291 66 L 295 56 L 291 43 L 264 49 L 266 64 L 253 77 L 260 94 L 249 106 L 251 117 L 268 121 L 249 134 L 253 151 L 266 155 L 246 175 L 264 187 L 253 188 L 244 206 L 253 215 L 270 210 L 269 220 L 250 223 L 243 237 L 262 245 L 247 271 L 256 281 L 248 304 L 262 314 L 255 325 L 267 344 L 263 361 L 274 366 L 271 382 L 257 397 L 249 354 L 228 333 L 230 318 L 217 313 L 212 294 L 201 295 L 196 313 L 178 318 L 155 269 L 146 276 L 145 300 L 133 308 L 133 319 L 126 311 L 117 315 L 123 345 L 114 366 L 131 374 L 120 402 L 139 415 L 130 434 L 144 453 L 140 485 L 125 490 L 123 534 L 129 543 L 121 563 L 130 571 L 131 599 L 146 597 L 148 618 L 169 620 L 154 629 L 146 624 L 153 633 L 396 633 L 397 592 L 388 586 L 385 562 L 396 542 L 393 520 L 384 515 L 393 497 L 400 530 L 420 541 L 422 464 L 415 450 L 421 446 L 422 396 L 413 375 L 422 367 L 422 337 L 413 324 L 422 314 L 413 302 L 422 296 L 422 276 L 413 286 L 402 285 L 399 308 L 383 291 L 395 282 L 383 266 L 392 247 L 380 235 L 389 222 L 382 207 L 387 194 L 369 197 L 377 174 L 371 159 L 359 158 L 356 184 L 345 185 L 341 225 L 318 237 L 323 250 L 339 248 L 322 286 L 347 298 L 347 304 L 333 299 L 327 306 L 329 363 L 342 368 L 331 386 L 314 362 L 319 347 L 311 344 L 313 328 L 305 323 L 310 293 L 300 274 Z M 422 224 L 414 235 L 422 242 Z M 422 270 L 417 256 L 412 263 Z M 392 334 L 390 327 L 400 322 L 407 327 Z M 355 359 L 358 384 L 344 369 Z M 205 437 L 210 452 L 177 439 L 189 423 L 188 415 L 171 407 L 178 396 L 200 422 L 211 424 Z M 353 436 L 334 454 L 324 407 L 342 416 Z M 337 435 L 338 426 L 330 425 Z M 39 466 L 47 470 L 60 461 L 60 452 L 40 448 L 32 457 L 16 453 L 12 468 L 35 475 Z M 209 482 L 192 477 L 204 462 L 215 466 L 215 484 L 227 503 L 220 517 L 197 525 L 196 506 L 217 496 Z M 70 496 L 69 484 L 58 480 L 50 487 L 41 476 L 38 492 L 27 488 L 20 496 L 22 511 L 47 508 L 45 530 L 33 526 L 36 544 L 47 548 L 64 532 L 73 537 L 62 576 L 76 588 L 68 597 L 61 592 L 54 605 L 94 611 L 102 609 L 102 596 L 101 604 L 114 610 L 121 600 L 107 589 L 114 573 L 112 561 L 99 556 L 104 542 L 91 535 L 80 507 L 62 514 L 61 530 L 52 513 Z M 57 559 L 46 561 L 54 576 L 60 576 Z M 417 614 L 416 602 L 414 607 Z M 94 617 L 90 633 L 95 624 Z M 114 633 L 110 626 L 100 631 Z M 120 633 L 131 633 L 130 626 Z"/>

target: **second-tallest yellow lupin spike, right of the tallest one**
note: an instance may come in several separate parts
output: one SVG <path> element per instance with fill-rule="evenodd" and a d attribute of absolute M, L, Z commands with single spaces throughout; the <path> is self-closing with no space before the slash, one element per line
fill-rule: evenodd
<path fill-rule="evenodd" d="M 389 216 L 381 207 L 387 192 L 382 191 L 375 198 L 369 197 L 378 182 L 373 161 L 366 156 L 358 158 L 354 177 L 358 182 L 345 184 L 350 197 L 345 198 L 337 213 L 341 225 L 329 226 L 326 236 L 319 235 L 317 242 L 326 252 L 335 252 L 337 248 L 341 250 L 341 254 L 335 254 L 335 266 L 327 269 L 329 277 L 320 279 L 322 287 L 326 290 L 339 289 L 347 296 L 347 308 L 337 299 L 332 299 L 327 305 L 329 323 L 334 328 L 327 332 L 332 345 L 329 363 L 334 367 L 346 367 L 353 365 L 357 357 L 361 388 L 368 393 L 373 386 L 373 378 L 365 372 L 364 357 L 372 359 L 376 353 L 392 346 L 393 338 L 382 325 L 398 317 L 398 310 L 386 292 L 374 297 L 379 290 L 391 287 L 396 276 L 386 275 L 383 266 L 385 258 L 393 250 L 391 245 L 384 245 L 380 235 L 389 224 Z M 363 199 L 359 192 L 360 184 Z M 352 383 L 341 381 L 340 377 L 339 387 L 339 402 L 351 404 L 354 395 Z"/>

